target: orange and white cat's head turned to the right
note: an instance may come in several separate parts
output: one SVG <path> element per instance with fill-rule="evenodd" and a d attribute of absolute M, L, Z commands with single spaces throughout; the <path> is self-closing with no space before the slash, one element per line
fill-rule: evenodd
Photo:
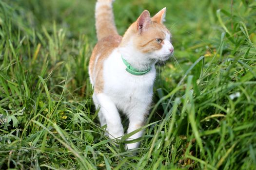
<path fill-rule="evenodd" d="M 166 8 L 160 10 L 154 17 L 150 17 L 147 10 L 143 11 L 123 36 L 122 44 L 142 54 L 141 59 L 165 61 L 174 52 L 171 34 L 164 26 Z M 138 58 L 139 59 L 139 58 Z"/>

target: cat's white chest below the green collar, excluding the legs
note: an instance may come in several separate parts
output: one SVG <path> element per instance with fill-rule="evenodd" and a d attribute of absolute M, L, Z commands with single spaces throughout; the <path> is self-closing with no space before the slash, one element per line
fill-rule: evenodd
<path fill-rule="evenodd" d="M 131 102 L 149 98 L 153 93 L 155 68 L 145 75 L 132 75 L 125 70 L 118 53 L 112 54 L 104 64 L 104 91 L 119 101 Z"/>

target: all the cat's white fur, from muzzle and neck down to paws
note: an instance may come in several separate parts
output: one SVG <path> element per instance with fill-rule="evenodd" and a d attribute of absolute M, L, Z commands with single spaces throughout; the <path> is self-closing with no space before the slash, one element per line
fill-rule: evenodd
<path fill-rule="evenodd" d="M 173 46 L 170 43 L 169 34 L 166 34 L 160 50 L 147 55 L 136 50 L 131 40 L 125 47 L 115 49 L 104 61 L 103 93 L 94 93 L 93 100 L 96 107 L 100 105 L 98 113 L 100 125 L 107 124 L 108 135 L 111 139 L 120 138 L 124 134 L 118 110 L 129 118 L 127 133 L 143 125 L 152 102 L 153 84 L 156 77 L 155 61 L 167 60 L 172 53 L 170 49 L 173 49 Z M 125 70 L 126 66 L 121 56 L 137 69 L 143 70 L 149 66 L 152 69 L 144 75 L 132 75 Z M 142 133 L 140 131 L 128 140 L 137 139 Z M 138 145 L 139 142 L 127 144 L 127 149 L 137 148 Z"/>

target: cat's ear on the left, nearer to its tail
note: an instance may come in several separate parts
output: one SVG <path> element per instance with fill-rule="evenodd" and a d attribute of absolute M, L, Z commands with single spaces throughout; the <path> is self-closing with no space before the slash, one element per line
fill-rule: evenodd
<path fill-rule="evenodd" d="M 137 19 L 137 30 L 141 33 L 152 23 L 148 10 L 143 11 Z"/>

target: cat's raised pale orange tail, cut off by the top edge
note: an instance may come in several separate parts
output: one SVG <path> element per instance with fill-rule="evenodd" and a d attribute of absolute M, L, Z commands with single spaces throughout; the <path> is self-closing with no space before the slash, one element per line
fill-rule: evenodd
<path fill-rule="evenodd" d="M 97 0 L 96 2 L 95 17 L 98 40 L 108 35 L 118 34 L 112 11 L 113 1 L 114 0 Z"/>

